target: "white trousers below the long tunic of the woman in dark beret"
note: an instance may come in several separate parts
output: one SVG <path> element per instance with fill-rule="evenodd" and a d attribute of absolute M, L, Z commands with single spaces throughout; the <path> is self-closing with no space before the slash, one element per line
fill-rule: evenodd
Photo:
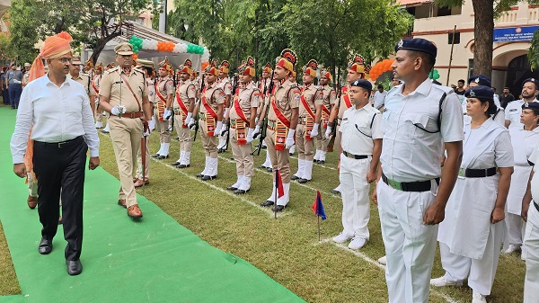
<path fill-rule="evenodd" d="M 490 295 L 492 283 L 498 269 L 499 251 L 504 234 L 504 222 L 490 225 L 489 238 L 481 259 L 472 259 L 449 251 L 449 246 L 440 242 L 442 267 L 447 281 L 464 281 L 468 286 L 484 296 Z M 465 235 L 464 235 L 465 236 Z"/>

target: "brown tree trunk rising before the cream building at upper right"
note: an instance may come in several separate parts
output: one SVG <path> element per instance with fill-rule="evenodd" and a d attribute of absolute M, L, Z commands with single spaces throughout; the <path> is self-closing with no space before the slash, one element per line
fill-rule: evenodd
<path fill-rule="evenodd" d="M 473 75 L 491 77 L 494 6 L 492 0 L 473 0 L 475 50 Z"/>

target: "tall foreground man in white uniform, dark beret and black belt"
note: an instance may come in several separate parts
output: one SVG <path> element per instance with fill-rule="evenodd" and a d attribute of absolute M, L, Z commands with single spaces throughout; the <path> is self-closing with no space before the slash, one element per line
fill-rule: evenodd
<path fill-rule="evenodd" d="M 432 42 L 404 39 L 395 51 L 393 75 L 403 84 L 385 98 L 382 180 L 373 201 L 382 225 L 389 301 L 427 303 L 437 224 L 461 162 L 463 113 L 453 89 L 430 82 L 437 55 Z"/>

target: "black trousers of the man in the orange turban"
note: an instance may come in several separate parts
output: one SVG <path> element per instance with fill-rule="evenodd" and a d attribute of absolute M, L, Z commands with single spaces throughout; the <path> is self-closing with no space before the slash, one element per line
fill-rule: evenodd
<path fill-rule="evenodd" d="M 83 245 L 84 172 L 88 146 L 77 137 L 60 143 L 34 142 L 33 169 L 38 179 L 41 236 L 57 233 L 62 197 L 66 260 L 78 260 Z"/>

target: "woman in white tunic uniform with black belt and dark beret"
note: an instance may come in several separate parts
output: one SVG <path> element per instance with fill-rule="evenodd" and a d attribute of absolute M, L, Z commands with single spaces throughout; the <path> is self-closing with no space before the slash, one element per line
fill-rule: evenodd
<path fill-rule="evenodd" d="M 461 169 L 437 236 L 446 274 L 430 283 L 462 285 L 468 278 L 472 302 L 486 303 L 503 240 L 513 147 L 508 129 L 490 117 L 496 111 L 492 89 L 475 86 L 464 96 L 471 120 L 464 125 Z"/>

